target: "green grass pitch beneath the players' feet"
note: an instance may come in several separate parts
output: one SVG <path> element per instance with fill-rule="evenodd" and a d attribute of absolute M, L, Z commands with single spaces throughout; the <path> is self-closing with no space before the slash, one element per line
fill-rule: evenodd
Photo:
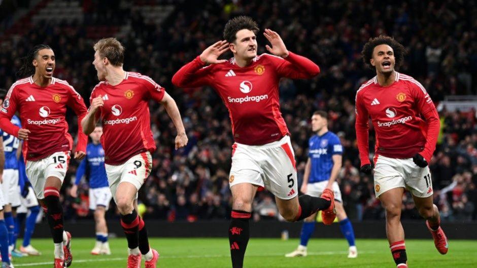
<path fill-rule="evenodd" d="M 74 238 L 72 268 L 123 268 L 126 267 L 126 240 L 110 239 L 112 255 L 92 256 L 89 251 L 93 239 Z M 151 238 L 151 245 L 161 254 L 160 268 L 215 268 L 231 267 L 228 239 L 226 238 Z M 21 242 L 18 242 L 20 245 Z M 297 239 L 252 238 L 249 241 L 244 267 L 248 268 L 357 268 L 396 267 L 384 239 L 358 239 L 358 258 L 348 259 L 345 239 L 312 239 L 308 257 L 286 258 L 296 248 Z M 42 251 L 41 256 L 14 259 L 15 267 L 52 267 L 53 244 L 51 239 L 34 239 L 32 245 Z M 451 240 L 447 255 L 440 255 L 429 240 L 406 240 L 408 263 L 411 268 L 477 267 L 477 241 Z M 144 267 L 144 261 L 142 263 Z"/>

